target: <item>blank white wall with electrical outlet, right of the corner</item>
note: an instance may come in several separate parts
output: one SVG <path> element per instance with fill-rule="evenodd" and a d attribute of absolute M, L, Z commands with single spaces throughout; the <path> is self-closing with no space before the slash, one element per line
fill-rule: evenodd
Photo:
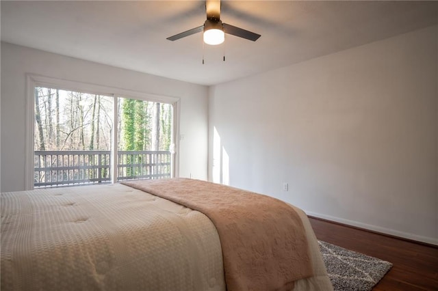
<path fill-rule="evenodd" d="M 428 27 L 211 87 L 209 178 L 216 128 L 232 186 L 438 244 L 437 38 Z"/>

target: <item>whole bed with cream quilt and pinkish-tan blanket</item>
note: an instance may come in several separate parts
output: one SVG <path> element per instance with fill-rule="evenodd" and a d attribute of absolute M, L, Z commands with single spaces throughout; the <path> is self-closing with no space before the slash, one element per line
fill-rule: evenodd
<path fill-rule="evenodd" d="M 1 290 L 333 288 L 302 210 L 164 179 L 1 193 Z"/>

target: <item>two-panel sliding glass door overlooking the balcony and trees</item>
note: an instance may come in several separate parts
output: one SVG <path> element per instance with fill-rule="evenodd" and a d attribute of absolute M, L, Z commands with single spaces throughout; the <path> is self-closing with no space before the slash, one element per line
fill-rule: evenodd
<path fill-rule="evenodd" d="M 35 187 L 173 176 L 172 104 L 34 87 Z"/>

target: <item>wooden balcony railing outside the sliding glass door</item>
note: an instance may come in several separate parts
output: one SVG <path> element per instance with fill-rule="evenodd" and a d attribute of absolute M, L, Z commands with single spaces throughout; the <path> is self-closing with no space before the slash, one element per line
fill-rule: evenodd
<path fill-rule="evenodd" d="M 110 182 L 108 150 L 36 150 L 34 186 L 66 186 Z M 118 151 L 117 180 L 170 178 L 168 151 Z"/>

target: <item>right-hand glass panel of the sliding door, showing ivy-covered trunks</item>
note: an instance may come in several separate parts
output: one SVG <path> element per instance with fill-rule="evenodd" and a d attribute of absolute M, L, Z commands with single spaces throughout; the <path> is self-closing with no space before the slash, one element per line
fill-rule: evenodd
<path fill-rule="evenodd" d="M 117 180 L 170 178 L 172 105 L 118 98 Z"/>

